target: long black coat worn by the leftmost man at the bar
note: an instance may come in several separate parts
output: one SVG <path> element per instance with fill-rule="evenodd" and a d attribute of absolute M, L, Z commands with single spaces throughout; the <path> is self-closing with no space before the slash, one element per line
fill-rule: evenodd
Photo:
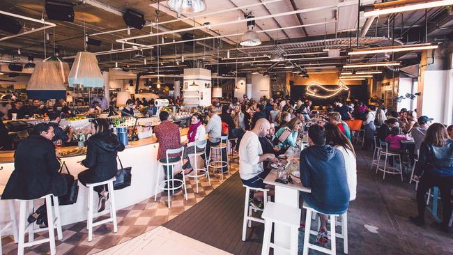
<path fill-rule="evenodd" d="M 1 199 L 30 200 L 47 194 L 63 196 L 68 184 L 59 169 L 60 162 L 52 141 L 40 135 L 31 135 L 17 146 L 14 171 Z"/>

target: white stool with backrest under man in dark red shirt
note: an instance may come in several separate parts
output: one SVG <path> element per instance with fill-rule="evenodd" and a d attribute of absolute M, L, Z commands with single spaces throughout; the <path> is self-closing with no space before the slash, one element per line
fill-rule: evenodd
<path fill-rule="evenodd" d="M 181 164 L 181 166 L 183 166 L 184 146 L 181 146 L 180 148 L 176 148 L 176 149 L 168 149 L 165 152 L 165 155 L 167 157 L 166 158 L 167 162 L 158 161 L 158 166 L 159 167 L 158 167 L 158 177 L 156 178 L 154 201 L 157 201 L 159 185 L 160 184 L 163 184 L 163 185 L 167 184 L 167 187 L 164 186 L 162 188 L 162 190 L 167 190 L 168 208 L 170 209 L 170 203 L 171 203 L 170 192 L 172 194 L 174 194 L 175 190 L 178 190 L 179 188 L 183 187 L 184 188 L 184 194 L 185 194 L 185 200 L 187 201 L 187 187 L 185 185 L 185 174 L 184 174 L 184 171 L 182 171 L 183 180 L 179 180 L 179 179 L 174 178 L 174 168 L 175 168 L 175 166 L 177 164 Z M 170 158 L 169 155 L 181 155 L 181 159 L 177 160 L 175 162 L 169 162 L 169 158 Z M 167 179 L 165 179 L 162 182 L 159 182 L 160 166 L 167 167 Z M 171 173 L 169 171 L 170 168 L 171 168 Z M 178 186 L 175 187 L 175 185 L 174 185 L 175 182 L 181 183 L 181 185 L 178 185 Z M 171 187 L 170 187 L 170 183 L 171 183 Z"/>

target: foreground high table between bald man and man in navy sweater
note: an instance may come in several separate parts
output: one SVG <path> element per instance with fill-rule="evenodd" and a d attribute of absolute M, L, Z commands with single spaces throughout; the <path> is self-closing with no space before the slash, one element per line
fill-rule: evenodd
<path fill-rule="evenodd" d="M 299 194 L 300 192 L 312 192 L 312 189 L 304 187 L 300 183 L 300 179 L 293 178 L 294 182 L 283 184 L 277 183 L 275 179 L 278 178 L 278 173 L 271 170 L 268 176 L 264 179 L 263 183 L 275 186 L 275 203 L 282 203 L 286 206 L 293 206 L 299 208 Z M 275 223 L 274 227 L 274 243 L 277 245 L 274 249 L 274 254 L 287 254 L 286 251 L 279 249 L 279 247 L 290 247 L 290 229 L 289 226 L 282 226 Z"/>

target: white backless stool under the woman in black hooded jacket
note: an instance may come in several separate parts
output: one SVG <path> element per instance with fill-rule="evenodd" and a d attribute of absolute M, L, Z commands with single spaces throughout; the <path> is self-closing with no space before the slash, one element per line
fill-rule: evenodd
<path fill-rule="evenodd" d="M 88 217 L 86 221 L 86 228 L 88 229 L 88 241 L 91 242 L 93 240 L 93 226 L 99 226 L 105 224 L 107 222 L 113 222 L 114 224 L 114 233 L 118 231 L 118 226 L 116 224 L 116 206 L 115 206 L 115 194 L 114 194 L 114 187 L 113 182 L 116 178 L 112 178 L 109 180 L 105 180 L 100 183 L 86 183 L 86 187 L 88 187 Z M 94 187 L 98 187 L 101 185 L 106 185 L 109 188 L 109 210 L 103 210 L 102 212 L 94 212 L 93 210 L 93 196 L 94 196 Z M 110 217 L 108 219 L 102 219 L 98 222 L 93 222 L 94 217 L 99 217 L 100 215 L 104 215 L 105 212 L 109 212 Z"/>

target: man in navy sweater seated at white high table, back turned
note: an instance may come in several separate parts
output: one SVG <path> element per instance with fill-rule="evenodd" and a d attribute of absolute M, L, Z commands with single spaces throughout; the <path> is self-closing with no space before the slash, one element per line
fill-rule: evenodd
<path fill-rule="evenodd" d="M 324 127 L 310 126 L 308 137 L 310 146 L 300 153 L 299 171 L 302 185 L 311 188 L 312 192 L 302 193 L 302 196 L 305 203 L 322 213 L 316 242 L 325 245 L 328 242 L 326 215 L 342 215 L 348 210 L 346 167 L 341 151 L 325 145 Z"/>

